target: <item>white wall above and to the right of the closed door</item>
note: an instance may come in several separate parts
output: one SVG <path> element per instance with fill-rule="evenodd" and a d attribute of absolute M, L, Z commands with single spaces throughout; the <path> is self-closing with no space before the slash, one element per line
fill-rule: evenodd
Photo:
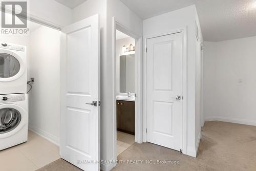
<path fill-rule="evenodd" d="M 196 20 L 198 17 L 195 5 L 143 20 L 144 37 L 187 27 L 187 154 L 194 157 L 200 129 L 196 111 Z M 199 36 L 202 39 L 202 34 Z"/>

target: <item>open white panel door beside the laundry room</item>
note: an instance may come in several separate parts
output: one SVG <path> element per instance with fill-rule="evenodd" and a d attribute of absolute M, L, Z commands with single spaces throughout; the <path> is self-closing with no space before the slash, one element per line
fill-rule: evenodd
<path fill-rule="evenodd" d="M 99 37 L 98 15 L 63 28 L 61 36 L 60 156 L 92 171 L 100 170 Z"/>

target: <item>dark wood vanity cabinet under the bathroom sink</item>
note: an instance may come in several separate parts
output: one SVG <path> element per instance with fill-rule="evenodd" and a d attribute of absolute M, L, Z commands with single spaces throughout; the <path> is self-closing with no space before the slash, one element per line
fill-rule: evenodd
<path fill-rule="evenodd" d="M 134 101 L 116 101 L 117 130 L 135 134 L 135 103 Z"/>

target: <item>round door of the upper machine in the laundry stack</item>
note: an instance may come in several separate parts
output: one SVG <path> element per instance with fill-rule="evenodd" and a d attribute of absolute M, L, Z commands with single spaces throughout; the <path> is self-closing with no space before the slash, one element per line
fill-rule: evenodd
<path fill-rule="evenodd" d="M 24 74 L 23 59 L 12 51 L 0 50 L 0 81 L 13 81 Z"/>

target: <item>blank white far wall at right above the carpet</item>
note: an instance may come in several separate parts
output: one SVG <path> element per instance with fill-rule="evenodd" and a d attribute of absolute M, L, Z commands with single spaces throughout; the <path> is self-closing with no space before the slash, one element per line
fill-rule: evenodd
<path fill-rule="evenodd" d="M 256 37 L 204 42 L 205 120 L 256 125 L 255 47 Z"/>

